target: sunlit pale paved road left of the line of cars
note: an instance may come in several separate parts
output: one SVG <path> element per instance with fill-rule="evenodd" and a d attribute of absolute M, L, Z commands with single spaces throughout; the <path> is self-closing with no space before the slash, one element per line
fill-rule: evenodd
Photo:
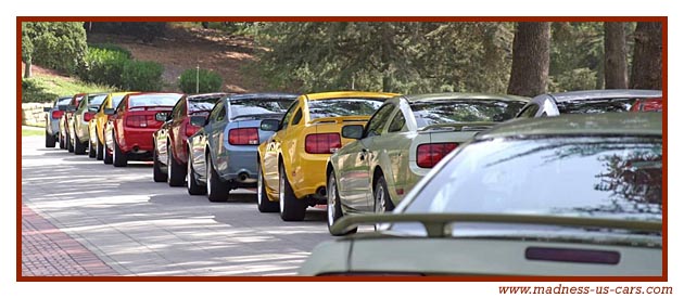
<path fill-rule="evenodd" d="M 333 238 L 325 209 L 283 222 L 259 213 L 250 191 L 210 203 L 154 183 L 150 163 L 114 168 L 43 145 L 22 139 L 23 204 L 121 275 L 292 275 Z"/>

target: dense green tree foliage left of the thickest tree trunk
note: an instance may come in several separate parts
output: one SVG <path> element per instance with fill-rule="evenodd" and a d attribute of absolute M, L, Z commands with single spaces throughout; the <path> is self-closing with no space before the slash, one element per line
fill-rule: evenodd
<path fill-rule="evenodd" d="M 505 92 L 510 23 L 256 23 L 254 68 L 273 88 Z"/>

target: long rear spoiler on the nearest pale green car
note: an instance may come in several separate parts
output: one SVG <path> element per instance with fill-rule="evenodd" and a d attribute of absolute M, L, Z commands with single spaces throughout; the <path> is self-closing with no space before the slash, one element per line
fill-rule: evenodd
<path fill-rule="evenodd" d="M 362 223 L 398 223 L 419 222 L 426 229 L 428 237 L 445 237 L 446 225 L 454 222 L 486 223 L 522 223 L 567 225 L 585 228 L 607 228 L 644 232 L 662 232 L 662 222 L 636 221 L 587 217 L 539 216 L 539 215 L 502 215 L 502 213 L 383 213 L 351 215 L 335 222 L 330 232 L 344 234 Z"/>

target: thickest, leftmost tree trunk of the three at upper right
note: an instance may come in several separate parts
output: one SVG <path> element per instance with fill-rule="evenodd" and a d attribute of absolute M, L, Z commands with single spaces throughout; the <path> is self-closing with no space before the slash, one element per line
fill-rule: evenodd
<path fill-rule="evenodd" d="M 546 92 L 550 23 L 518 23 L 508 94 L 534 96 Z"/>

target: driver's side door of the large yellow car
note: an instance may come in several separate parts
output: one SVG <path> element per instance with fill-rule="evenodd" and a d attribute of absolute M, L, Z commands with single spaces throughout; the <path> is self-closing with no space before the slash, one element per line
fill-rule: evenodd
<path fill-rule="evenodd" d="M 290 121 L 294 117 L 294 112 L 299 107 L 299 101 L 295 101 L 292 105 L 290 105 L 288 112 L 286 112 L 284 116 L 282 116 L 278 131 L 276 131 L 270 140 L 268 140 L 268 143 L 266 144 L 266 152 L 262 158 L 264 160 L 264 182 L 270 190 L 274 191 L 279 191 L 278 154 L 281 151 L 283 140 L 288 137 Z"/>

